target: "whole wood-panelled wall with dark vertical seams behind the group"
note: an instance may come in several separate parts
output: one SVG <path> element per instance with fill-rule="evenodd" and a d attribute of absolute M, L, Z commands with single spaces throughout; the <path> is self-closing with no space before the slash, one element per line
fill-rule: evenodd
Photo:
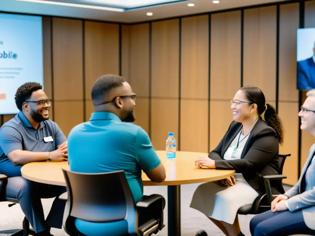
<path fill-rule="evenodd" d="M 315 27 L 315 1 L 305 2 L 304 13 L 304 26 Z M 296 89 L 300 17 L 300 3 L 134 25 L 43 17 L 50 117 L 67 136 L 93 112 L 94 81 L 120 74 L 137 94 L 135 124 L 155 149 L 164 150 L 167 132 L 174 132 L 179 150 L 208 153 L 232 121 L 229 100 L 242 85 L 255 85 L 278 108 L 285 129 L 280 153 L 291 153 L 284 182 L 293 185 L 315 142 L 304 131 L 299 137 L 297 114 L 305 99 Z M 12 117 L 3 115 L 1 122 Z"/>

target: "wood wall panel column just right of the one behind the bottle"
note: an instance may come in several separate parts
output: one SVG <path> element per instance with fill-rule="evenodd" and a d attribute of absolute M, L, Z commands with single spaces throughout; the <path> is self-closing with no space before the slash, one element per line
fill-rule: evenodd
<path fill-rule="evenodd" d="M 208 152 L 209 16 L 182 18 L 180 37 L 180 150 Z"/>

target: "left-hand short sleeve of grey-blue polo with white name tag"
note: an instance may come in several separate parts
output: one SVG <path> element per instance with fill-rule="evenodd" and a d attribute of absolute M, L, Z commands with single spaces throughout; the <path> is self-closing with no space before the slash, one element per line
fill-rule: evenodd
<path fill-rule="evenodd" d="M 0 129 L 0 147 L 4 155 L 8 155 L 14 150 L 23 150 L 22 135 L 13 127 L 3 126 Z"/>

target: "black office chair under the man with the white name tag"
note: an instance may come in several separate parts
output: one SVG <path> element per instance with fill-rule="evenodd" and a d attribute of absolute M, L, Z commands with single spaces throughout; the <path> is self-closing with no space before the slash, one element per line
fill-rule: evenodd
<path fill-rule="evenodd" d="M 8 201 L 12 202 L 9 204 L 9 207 L 18 204 L 18 199 L 14 198 L 6 198 L 5 197 L 5 187 L 8 182 L 8 177 L 0 173 L 0 202 Z M 22 229 L 9 229 L 9 230 L 2 230 L 0 233 L 8 233 L 11 234 L 10 236 L 28 236 L 28 235 L 35 235 L 34 229 L 30 228 L 30 222 L 24 217 Z"/>

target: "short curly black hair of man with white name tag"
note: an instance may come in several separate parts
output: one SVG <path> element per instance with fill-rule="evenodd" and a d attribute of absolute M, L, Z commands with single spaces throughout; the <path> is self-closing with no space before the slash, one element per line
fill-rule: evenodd
<path fill-rule="evenodd" d="M 27 82 L 22 84 L 15 93 L 15 104 L 17 108 L 22 111 L 22 105 L 25 101 L 27 101 L 33 92 L 43 89 L 43 86 L 36 82 Z"/>

